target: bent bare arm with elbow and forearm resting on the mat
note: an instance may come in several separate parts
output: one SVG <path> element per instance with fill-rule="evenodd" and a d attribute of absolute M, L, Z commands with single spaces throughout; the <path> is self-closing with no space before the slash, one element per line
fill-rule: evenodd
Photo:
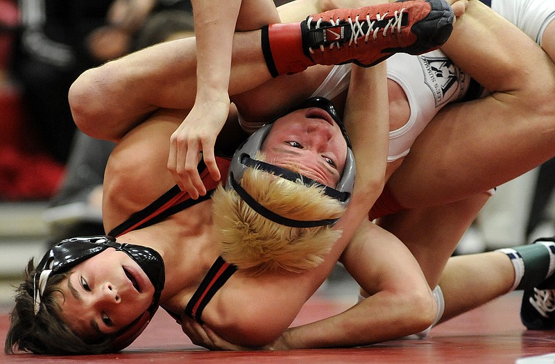
<path fill-rule="evenodd" d="M 273 349 L 369 345 L 432 324 L 435 301 L 425 277 L 392 234 L 365 221 L 342 260 L 370 296 L 339 315 L 288 329 Z"/>

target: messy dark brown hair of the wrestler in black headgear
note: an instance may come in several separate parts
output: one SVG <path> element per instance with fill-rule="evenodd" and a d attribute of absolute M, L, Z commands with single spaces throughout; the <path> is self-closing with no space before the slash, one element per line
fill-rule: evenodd
<path fill-rule="evenodd" d="M 85 343 L 76 336 L 60 318 L 60 306 L 55 293 L 60 291 L 60 282 L 67 273 L 52 275 L 42 295 L 40 311 L 35 315 L 33 300 L 33 259 L 27 264 L 25 279 L 16 290 L 15 307 L 10 313 L 10 329 L 6 335 L 4 352 L 16 351 L 34 354 L 100 354 L 110 352 L 113 335 L 107 335 L 100 343 Z"/>

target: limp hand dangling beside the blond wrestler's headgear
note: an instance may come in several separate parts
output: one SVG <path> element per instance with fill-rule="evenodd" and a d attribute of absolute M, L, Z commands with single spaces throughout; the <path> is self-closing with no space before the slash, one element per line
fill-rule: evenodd
<path fill-rule="evenodd" d="M 196 102 L 189 115 L 173 132 L 170 138 L 168 169 L 182 191 L 191 198 L 206 194 L 206 188 L 196 169 L 200 158 L 208 168 L 214 181 L 221 178 L 214 157 L 214 144 L 228 117 L 230 104 L 216 102 Z"/>

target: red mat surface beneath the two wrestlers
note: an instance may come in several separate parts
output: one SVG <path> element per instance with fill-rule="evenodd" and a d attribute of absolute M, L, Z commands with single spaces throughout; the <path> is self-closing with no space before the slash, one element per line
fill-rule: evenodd
<path fill-rule="evenodd" d="M 347 306 L 344 301 L 315 297 L 305 305 L 294 324 L 338 313 Z M 555 352 L 555 332 L 526 331 L 518 318 L 519 308 L 520 294 L 513 293 L 441 324 L 426 340 L 395 340 L 364 348 L 287 352 L 209 352 L 191 344 L 169 315 L 159 311 L 142 336 L 119 354 L 65 357 L 1 354 L 0 363 L 504 364 Z M 7 328 L 8 318 L 4 314 L 0 316 L 3 338 Z"/>

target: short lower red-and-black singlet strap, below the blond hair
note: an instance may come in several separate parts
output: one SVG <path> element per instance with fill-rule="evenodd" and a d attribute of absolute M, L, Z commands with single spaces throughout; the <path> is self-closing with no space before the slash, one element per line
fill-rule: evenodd
<path fill-rule="evenodd" d="M 202 323 L 201 316 L 204 308 L 214 297 L 214 294 L 236 271 L 237 266 L 224 261 L 222 257 L 218 257 L 210 270 L 208 270 L 200 286 L 196 288 L 193 297 L 191 297 L 191 300 L 185 307 L 185 314 L 196 320 L 196 322 Z"/>

